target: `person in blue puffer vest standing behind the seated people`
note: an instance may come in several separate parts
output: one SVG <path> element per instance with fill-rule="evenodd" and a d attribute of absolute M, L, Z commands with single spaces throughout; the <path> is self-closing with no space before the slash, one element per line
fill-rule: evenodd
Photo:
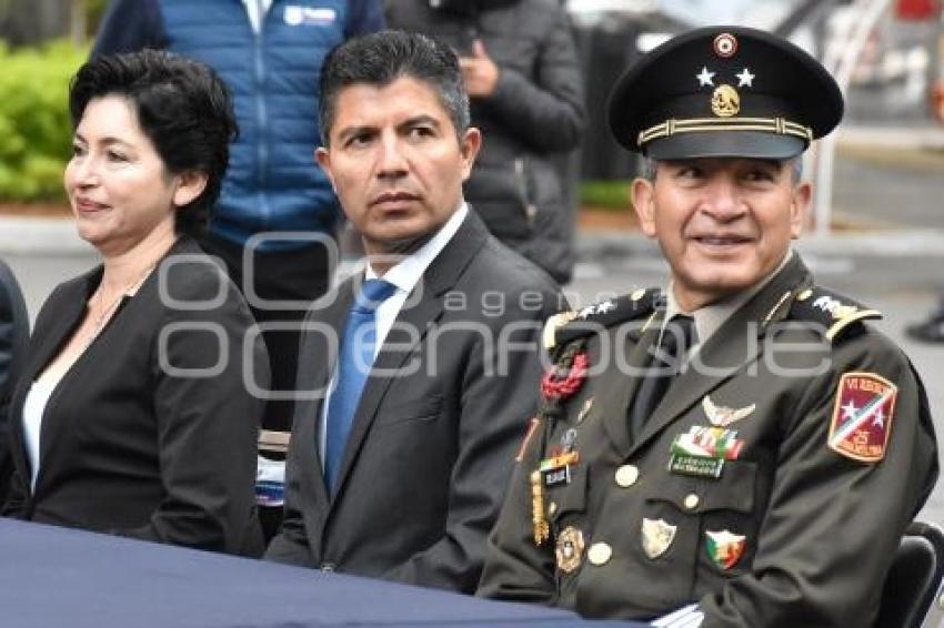
<path fill-rule="evenodd" d="M 264 324 L 300 322 L 335 259 L 340 209 L 313 156 L 321 62 L 383 23 L 379 0 L 112 0 L 92 50 L 165 49 L 209 64 L 232 90 L 240 133 L 200 244 L 223 259 L 263 324 L 277 391 L 294 388 L 299 334 Z M 289 431 L 291 409 L 270 402 L 262 427 Z"/>

